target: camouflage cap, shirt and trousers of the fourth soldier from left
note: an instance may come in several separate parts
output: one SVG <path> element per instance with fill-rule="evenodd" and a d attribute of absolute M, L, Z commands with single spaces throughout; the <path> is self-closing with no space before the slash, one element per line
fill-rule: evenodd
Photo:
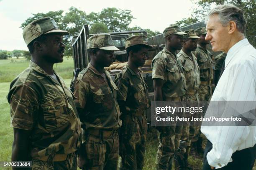
<path fill-rule="evenodd" d="M 169 33 L 169 34 L 168 34 Z M 172 33 L 182 33 L 178 26 L 171 26 L 164 30 L 164 37 Z M 181 101 L 187 94 L 186 79 L 183 74 L 182 63 L 176 56 L 164 48 L 152 61 L 152 79 L 164 80 L 162 87 L 163 99 Z M 158 131 L 159 147 L 156 153 L 156 169 L 168 169 L 174 153 L 179 148 L 182 126 L 166 126 L 162 132 Z"/>

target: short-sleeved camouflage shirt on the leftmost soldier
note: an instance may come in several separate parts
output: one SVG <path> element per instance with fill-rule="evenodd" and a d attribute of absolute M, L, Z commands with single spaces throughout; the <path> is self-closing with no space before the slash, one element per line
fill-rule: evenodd
<path fill-rule="evenodd" d="M 68 154 L 81 142 L 81 125 L 73 95 L 63 79 L 51 78 L 36 63 L 10 84 L 11 126 L 31 130 L 31 157 Z"/>

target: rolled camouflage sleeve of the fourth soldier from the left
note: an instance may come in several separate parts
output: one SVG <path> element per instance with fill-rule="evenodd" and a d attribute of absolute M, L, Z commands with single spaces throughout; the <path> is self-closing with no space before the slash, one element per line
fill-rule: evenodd
<path fill-rule="evenodd" d="M 156 58 L 152 66 L 152 79 L 164 80 L 166 62 L 162 58 Z"/>

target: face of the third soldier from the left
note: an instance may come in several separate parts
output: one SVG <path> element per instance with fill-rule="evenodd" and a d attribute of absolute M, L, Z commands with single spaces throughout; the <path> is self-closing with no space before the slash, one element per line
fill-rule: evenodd
<path fill-rule="evenodd" d="M 132 62 L 136 64 L 136 66 L 141 67 L 145 64 L 147 59 L 148 48 L 141 47 L 137 53 L 133 52 Z"/>

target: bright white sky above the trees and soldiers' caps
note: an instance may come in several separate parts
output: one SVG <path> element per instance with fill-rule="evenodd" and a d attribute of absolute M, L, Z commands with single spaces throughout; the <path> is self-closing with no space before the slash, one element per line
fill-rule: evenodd
<path fill-rule="evenodd" d="M 189 17 L 194 8 L 191 0 L 0 0 L 0 49 L 28 50 L 19 28 L 21 23 L 32 17 L 32 13 L 67 12 L 71 6 L 87 14 L 107 7 L 131 10 L 136 19 L 130 26 L 159 32 L 175 21 Z"/>

